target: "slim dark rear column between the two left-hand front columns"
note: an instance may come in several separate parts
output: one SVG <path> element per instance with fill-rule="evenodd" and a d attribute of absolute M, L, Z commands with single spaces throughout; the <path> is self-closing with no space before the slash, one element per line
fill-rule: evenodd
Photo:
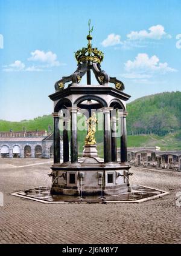
<path fill-rule="evenodd" d="M 63 163 L 69 161 L 68 123 L 69 118 L 63 118 Z"/>

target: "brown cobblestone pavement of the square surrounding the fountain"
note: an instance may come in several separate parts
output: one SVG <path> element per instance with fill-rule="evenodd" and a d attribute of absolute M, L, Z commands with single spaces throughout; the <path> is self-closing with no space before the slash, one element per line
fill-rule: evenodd
<path fill-rule="evenodd" d="M 48 186 L 49 161 L 0 160 L 0 243 L 181 243 L 181 172 L 132 167 L 132 183 L 170 192 L 140 204 L 43 204 L 10 195 Z M 44 164 L 30 166 L 37 163 Z"/>

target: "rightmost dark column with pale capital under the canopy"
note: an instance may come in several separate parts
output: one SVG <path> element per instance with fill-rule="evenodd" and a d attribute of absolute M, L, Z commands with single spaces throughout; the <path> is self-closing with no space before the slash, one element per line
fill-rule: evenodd
<path fill-rule="evenodd" d="M 121 118 L 121 163 L 127 162 L 126 116 L 127 112 L 119 113 L 119 118 Z"/>

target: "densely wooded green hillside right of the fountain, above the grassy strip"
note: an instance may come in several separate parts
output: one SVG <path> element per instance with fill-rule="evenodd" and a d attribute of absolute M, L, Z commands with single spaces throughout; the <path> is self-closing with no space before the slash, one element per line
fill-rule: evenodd
<path fill-rule="evenodd" d="M 163 92 L 127 105 L 127 132 L 167 135 L 181 126 L 181 92 Z"/>

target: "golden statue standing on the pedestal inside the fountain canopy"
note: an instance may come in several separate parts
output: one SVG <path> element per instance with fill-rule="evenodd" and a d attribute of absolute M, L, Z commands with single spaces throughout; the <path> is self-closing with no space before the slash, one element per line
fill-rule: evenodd
<path fill-rule="evenodd" d="M 96 118 L 95 112 L 93 112 L 92 116 L 87 119 L 86 123 L 88 126 L 88 132 L 85 140 L 85 145 L 94 145 L 96 144 L 95 131 L 96 131 L 96 124 L 97 124 L 97 118 Z"/>

